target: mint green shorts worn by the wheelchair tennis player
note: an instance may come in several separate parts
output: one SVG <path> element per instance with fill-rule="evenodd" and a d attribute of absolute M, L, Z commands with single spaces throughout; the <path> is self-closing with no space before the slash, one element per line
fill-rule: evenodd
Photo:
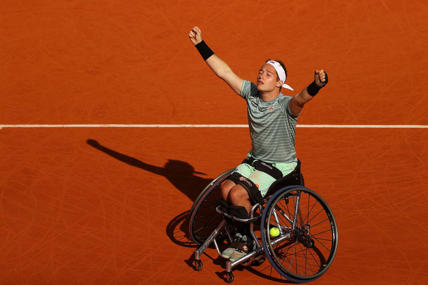
<path fill-rule="evenodd" d="M 253 152 L 250 150 L 247 157 L 251 157 L 251 154 Z M 279 171 L 282 172 L 282 176 L 287 175 L 291 171 L 294 170 L 297 166 L 297 159 L 296 162 L 290 162 L 290 163 L 272 163 L 272 166 L 275 168 L 278 168 Z M 242 176 L 247 177 L 251 181 L 253 181 L 257 188 L 259 188 L 261 194 L 263 197 L 265 197 L 266 192 L 268 192 L 269 186 L 272 185 L 273 182 L 275 182 L 275 178 L 270 176 L 268 173 L 256 170 L 251 165 L 248 165 L 246 163 L 240 164 L 236 167 L 236 169 L 233 171 L 233 173 L 238 172 Z"/>

